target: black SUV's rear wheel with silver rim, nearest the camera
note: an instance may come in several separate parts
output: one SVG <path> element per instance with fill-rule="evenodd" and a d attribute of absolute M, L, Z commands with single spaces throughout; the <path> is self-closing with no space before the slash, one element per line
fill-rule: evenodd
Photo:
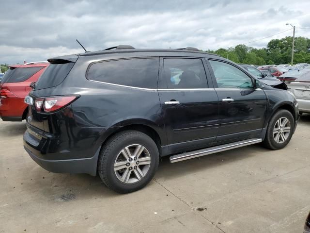
<path fill-rule="evenodd" d="M 138 155 L 135 158 L 136 151 Z M 145 133 L 130 130 L 117 133 L 103 145 L 97 170 L 103 183 L 111 190 L 130 193 L 152 180 L 158 163 L 159 153 L 153 139 Z"/>

